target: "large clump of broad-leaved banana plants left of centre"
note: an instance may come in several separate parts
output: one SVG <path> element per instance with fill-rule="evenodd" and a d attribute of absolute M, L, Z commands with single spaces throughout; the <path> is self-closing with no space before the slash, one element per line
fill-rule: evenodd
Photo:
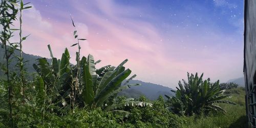
<path fill-rule="evenodd" d="M 48 62 L 46 58 L 39 58 L 33 67 L 42 78 L 43 82 L 41 83 L 46 85 L 44 88 L 46 94 L 53 96 L 52 101 L 58 105 L 70 106 L 77 67 L 71 65 L 68 49 L 65 49 L 61 59 L 57 59 L 53 56 L 49 45 L 48 48 L 52 57 L 51 62 Z M 91 54 L 88 57 L 83 56 L 81 60 L 77 61 L 80 61 L 81 72 L 78 74 L 79 86 L 74 91 L 76 91 L 75 104 L 79 107 L 88 106 L 91 109 L 101 107 L 104 109 L 105 104 L 113 104 L 113 99 L 120 91 L 140 85 L 128 84 L 136 75 L 127 79 L 123 85 L 121 84 L 132 72 L 123 67 L 128 61 L 127 59 L 117 67 L 108 65 L 100 69 L 95 68 L 96 63 L 100 60 L 95 62 Z"/>

